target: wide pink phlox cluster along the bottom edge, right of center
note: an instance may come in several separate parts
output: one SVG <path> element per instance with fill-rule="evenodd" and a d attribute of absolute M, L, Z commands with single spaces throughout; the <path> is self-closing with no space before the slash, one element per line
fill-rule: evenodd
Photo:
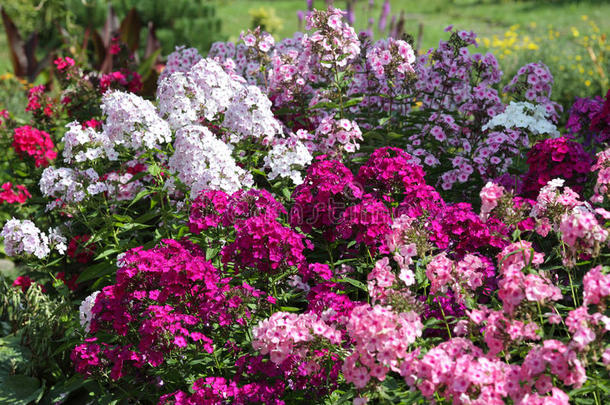
<path fill-rule="evenodd" d="M 568 395 L 553 386 L 547 367 L 565 385 L 579 387 L 586 378 L 574 352 L 554 340 L 530 350 L 521 366 L 485 356 L 463 338 L 443 342 L 421 359 L 416 354 L 402 363 L 407 384 L 430 400 L 438 394 L 456 405 L 501 405 L 509 398 L 519 405 L 568 405 Z"/>

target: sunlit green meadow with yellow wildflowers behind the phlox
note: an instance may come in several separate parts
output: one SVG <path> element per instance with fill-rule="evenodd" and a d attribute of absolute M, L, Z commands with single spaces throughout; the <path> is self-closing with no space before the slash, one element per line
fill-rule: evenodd
<path fill-rule="evenodd" d="M 222 19 L 222 33 L 230 41 L 236 41 L 242 30 L 251 24 L 250 10 L 273 9 L 282 22 L 281 29 L 274 35 L 277 39 L 292 36 L 303 27 L 299 26 L 297 11 L 306 8 L 305 0 L 212 0 L 217 3 L 217 14 Z M 337 7 L 345 8 L 346 0 L 336 0 Z M 383 0 L 355 2 L 355 28 L 367 28 L 369 18 L 379 19 Z M 315 0 L 314 7 L 324 8 L 325 2 Z M 610 36 L 610 1 L 604 0 L 391 0 L 391 15 L 404 11 L 405 31 L 418 37 L 421 29 L 421 50 L 435 47 L 443 32 L 450 24 L 458 29 L 473 30 L 482 39 L 481 51 L 492 50 L 500 59 L 505 76 L 510 76 L 518 65 L 526 61 L 542 60 L 551 71 L 562 93 L 560 101 L 573 99 L 574 96 L 605 92 L 603 81 L 598 80 L 599 71 L 610 73 L 610 41 L 605 43 L 605 61 L 601 66 L 593 66 L 590 53 L 578 40 L 591 31 L 591 23 L 599 27 L 598 37 Z M 583 20 L 581 17 L 586 16 Z M 577 38 L 574 33 L 581 33 Z M 552 33 L 552 34 L 550 34 Z M 519 35 L 519 40 L 534 43 L 538 49 L 519 50 L 518 46 L 503 41 L 507 35 Z M 377 38 L 387 35 L 375 30 Z M 492 40 L 496 40 L 495 42 Z M 552 38 L 552 39 L 549 39 Z M 510 41 L 509 41 L 510 42 Z M 493 44 L 496 44 L 494 47 Z M 498 45 L 500 43 L 501 45 Z M 0 74 L 10 71 L 11 63 L 4 32 L 0 33 Z M 512 54 L 512 55 L 511 55 Z M 598 55 L 600 56 L 600 55 Z M 602 73 L 603 75 L 603 73 Z M 607 82 L 605 82 L 607 83 Z"/>

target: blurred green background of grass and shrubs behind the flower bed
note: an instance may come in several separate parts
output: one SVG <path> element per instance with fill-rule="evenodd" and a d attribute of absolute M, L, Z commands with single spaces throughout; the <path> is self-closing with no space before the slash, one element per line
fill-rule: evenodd
<path fill-rule="evenodd" d="M 312 5 L 324 8 L 329 3 L 317 0 Z M 492 51 L 500 60 L 506 80 L 524 63 L 546 63 L 561 102 L 602 95 L 609 87 L 610 1 L 389 0 L 384 31 L 378 26 L 384 0 L 334 3 L 343 9 L 349 3 L 355 28 L 371 28 L 377 38 L 387 36 L 392 19 L 402 19 L 404 31 L 416 38 L 420 51 L 435 46 L 447 25 L 473 30 L 479 35 L 480 51 Z M 22 36 L 40 33 L 39 52 L 67 46 L 57 35 L 60 30 L 78 37 L 84 26 L 101 27 L 109 4 L 119 17 L 135 7 L 144 24 L 152 21 L 164 55 L 183 44 L 205 53 L 212 42 L 236 41 L 242 30 L 257 25 L 277 39 L 292 36 L 303 29 L 297 15 L 307 9 L 305 0 L 0 0 Z M 10 71 L 2 31 L 0 74 Z"/>

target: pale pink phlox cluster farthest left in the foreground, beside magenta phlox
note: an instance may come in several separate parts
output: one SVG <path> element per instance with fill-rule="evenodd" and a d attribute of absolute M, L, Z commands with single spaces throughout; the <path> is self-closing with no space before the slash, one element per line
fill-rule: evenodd
<path fill-rule="evenodd" d="M 281 364 L 289 356 L 305 361 L 316 339 L 338 345 L 341 332 L 314 313 L 275 312 L 252 328 L 252 347 L 261 354 L 269 354 L 275 364 Z M 315 362 L 306 362 L 305 370 L 311 374 L 319 367 Z"/>

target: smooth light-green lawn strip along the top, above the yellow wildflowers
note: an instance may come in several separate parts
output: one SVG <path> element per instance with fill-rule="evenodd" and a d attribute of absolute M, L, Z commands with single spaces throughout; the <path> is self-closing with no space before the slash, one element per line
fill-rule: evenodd
<path fill-rule="evenodd" d="M 540 33 L 547 30 L 548 25 L 568 32 L 572 26 L 584 29 L 585 24 L 579 17 L 587 15 L 603 32 L 610 32 L 610 19 L 606 17 L 610 15 L 610 2 L 607 1 L 391 0 L 390 3 L 392 14 L 405 12 L 407 32 L 416 36 L 419 25 L 423 24 L 424 49 L 436 46 L 444 37 L 443 29 L 450 24 L 459 29 L 473 30 L 479 36 L 502 35 L 512 25 L 527 26 L 531 22 L 537 22 L 535 31 Z M 375 0 L 372 11 L 368 12 L 368 0 L 357 1 L 356 29 L 366 28 L 370 17 L 377 21 L 382 4 L 383 0 Z M 344 1 L 337 1 L 336 5 L 345 8 Z M 315 1 L 314 6 L 323 8 L 324 2 Z M 306 3 L 300 0 L 221 1 L 217 12 L 223 20 L 223 33 L 229 40 L 237 39 L 241 30 L 248 27 L 249 10 L 260 7 L 275 9 L 283 20 L 283 28 L 276 37 L 284 38 L 299 28 L 296 13 L 305 9 Z"/>

